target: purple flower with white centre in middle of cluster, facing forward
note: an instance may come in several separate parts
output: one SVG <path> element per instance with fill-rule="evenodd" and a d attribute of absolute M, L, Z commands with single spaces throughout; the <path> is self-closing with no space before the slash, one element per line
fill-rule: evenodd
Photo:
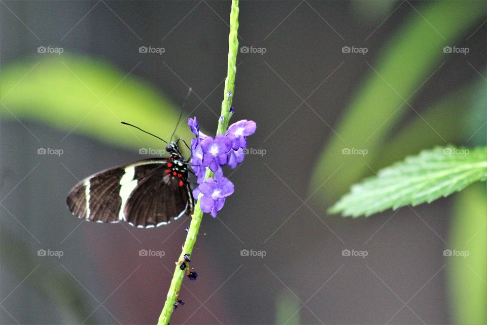
<path fill-rule="evenodd" d="M 201 149 L 203 151 L 203 166 L 210 167 L 213 172 L 216 172 L 219 166 L 227 164 L 227 153 L 232 148 L 232 141 L 224 135 L 217 135 L 215 139 L 206 137 L 201 141 Z"/>

